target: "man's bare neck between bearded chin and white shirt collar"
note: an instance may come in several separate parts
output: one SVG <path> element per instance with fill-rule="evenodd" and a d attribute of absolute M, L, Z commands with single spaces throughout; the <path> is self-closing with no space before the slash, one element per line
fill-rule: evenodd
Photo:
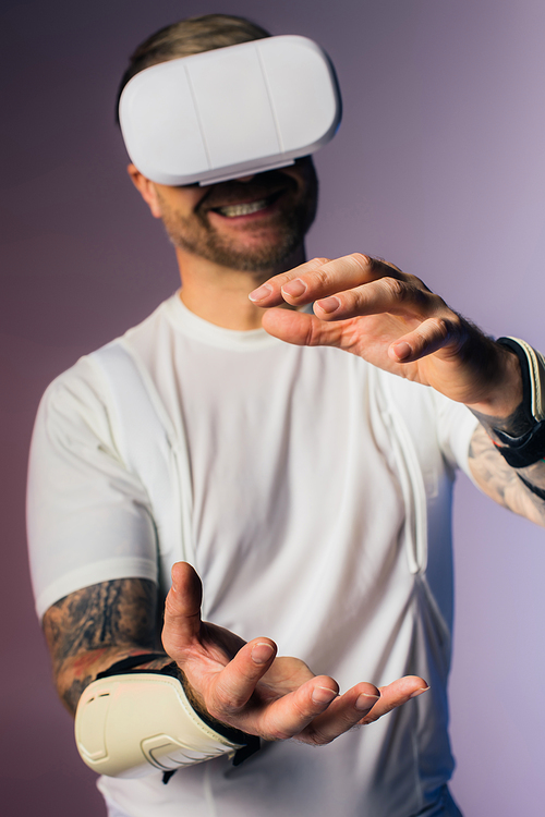
<path fill-rule="evenodd" d="M 280 267 L 265 272 L 242 272 L 191 255 L 180 247 L 175 253 L 182 279 L 180 297 L 187 309 L 210 324 L 241 331 L 262 326 L 263 309 L 249 301 L 250 292 L 271 276 L 305 260 L 301 245 Z"/>

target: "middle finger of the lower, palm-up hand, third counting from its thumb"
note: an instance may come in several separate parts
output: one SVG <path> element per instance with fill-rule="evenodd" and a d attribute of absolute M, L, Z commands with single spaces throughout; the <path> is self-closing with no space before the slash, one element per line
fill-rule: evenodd
<path fill-rule="evenodd" d="M 284 741 L 300 735 L 337 698 L 339 686 L 328 675 L 316 675 L 298 690 L 265 707 L 259 719 L 259 734 L 269 741 Z"/>

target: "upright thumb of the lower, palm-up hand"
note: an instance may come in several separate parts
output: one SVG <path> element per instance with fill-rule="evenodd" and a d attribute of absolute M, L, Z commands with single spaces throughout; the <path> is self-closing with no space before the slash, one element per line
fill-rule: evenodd
<path fill-rule="evenodd" d="M 177 562 L 172 566 L 172 586 L 165 601 L 162 645 L 175 661 L 201 631 L 201 603 L 203 585 L 191 564 Z"/>

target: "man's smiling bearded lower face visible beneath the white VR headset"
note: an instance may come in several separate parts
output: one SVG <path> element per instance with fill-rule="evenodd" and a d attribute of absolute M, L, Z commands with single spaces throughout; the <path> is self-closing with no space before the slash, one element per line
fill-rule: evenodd
<path fill-rule="evenodd" d="M 249 181 L 155 188 L 175 246 L 243 271 L 281 266 L 303 243 L 316 215 L 317 179 L 310 157 Z"/>

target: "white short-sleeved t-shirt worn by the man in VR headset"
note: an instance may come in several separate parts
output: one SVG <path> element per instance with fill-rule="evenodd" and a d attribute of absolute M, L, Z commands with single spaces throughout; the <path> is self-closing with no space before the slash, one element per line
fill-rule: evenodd
<path fill-rule="evenodd" d="M 474 417 L 338 350 L 207 324 L 177 295 L 119 347 L 165 420 L 161 462 L 128 432 L 140 404 L 121 416 L 100 353 L 49 387 L 29 480 L 38 614 L 113 578 L 166 590 L 183 558 L 209 621 L 274 638 L 342 690 L 407 673 L 432 690 L 319 749 L 267 744 L 238 768 L 100 789 L 131 817 L 450 814 L 450 499 Z"/>

